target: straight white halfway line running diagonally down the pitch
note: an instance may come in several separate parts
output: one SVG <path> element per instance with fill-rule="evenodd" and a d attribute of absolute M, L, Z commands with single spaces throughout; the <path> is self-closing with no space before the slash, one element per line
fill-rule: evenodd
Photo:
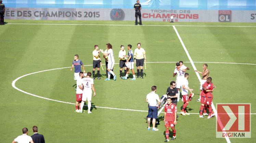
<path fill-rule="evenodd" d="M 178 36 L 178 38 L 179 38 L 179 40 L 180 40 L 180 43 L 181 43 L 183 49 L 185 50 L 185 52 L 186 52 L 186 54 L 187 54 L 187 56 L 188 56 L 188 58 L 189 58 L 189 61 L 190 61 L 191 65 L 192 65 L 193 69 L 196 70 L 196 67 L 195 67 L 195 65 L 194 65 L 194 62 L 193 62 L 193 60 L 191 59 L 191 57 L 190 57 L 190 55 L 189 55 L 189 52 L 188 52 L 187 48 L 185 47 L 185 45 L 184 45 L 184 43 L 183 43 L 183 41 L 182 41 L 182 39 L 181 39 L 181 37 L 180 37 L 180 34 L 178 33 L 178 31 L 177 31 L 177 29 L 175 28 L 175 26 L 173 26 L 173 28 L 174 28 L 174 30 L 175 30 L 175 32 L 176 32 L 176 34 L 177 34 L 177 36 Z M 201 80 L 201 77 L 199 76 L 199 73 L 198 73 L 198 72 L 195 72 L 195 73 L 196 73 L 197 78 L 199 79 L 199 82 L 201 83 L 202 80 Z M 213 111 L 214 111 L 214 113 L 215 113 L 215 116 L 218 118 L 218 116 L 217 116 L 217 111 L 216 111 L 216 109 L 215 109 L 215 106 L 214 106 L 213 102 L 212 102 L 212 108 L 213 108 Z M 220 126 L 222 126 L 222 125 L 220 124 Z M 222 130 L 222 132 L 223 132 L 223 133 L 227 133 L 225 130 L 224 130 L 224 131 Z M 227 143 L 231 143 L 230 140 L 229 140 L 229 137 L 225 137 L 225 139 L 226 139 Z"/>

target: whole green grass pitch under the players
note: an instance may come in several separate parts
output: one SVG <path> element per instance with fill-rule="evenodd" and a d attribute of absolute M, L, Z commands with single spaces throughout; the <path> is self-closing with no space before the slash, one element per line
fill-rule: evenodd
<path fill-rule="evenodd" d="M 251 103 L 251 113 L 256 113 L 255 23 L 143 22 L 143 26 L 133 26 L 132 21 L 5 22 L 8 24 L 0 27 L 1 143 L 13 141 L 22 134 L 23 127 L 28 128 L 28 135 L 31 136 L 34 125 L 38 126 L 39 133 L 44 135 L 46 142 L 51 143 L 163 142 L 165 127 L 162 116 L 159 117 L 160 125 L 157 126 L 159 131 L 148 131 L 144 119 L 147 112 L 143 111 L 148 110 L 145 98 L 152 85 L 157 86 L 156 93 L 161 97 L 166 93 L 170 81 L 175 81 L 176 77 L 172 77 L 175 62 L 182 60 L 190 68 L 187 71 L 190 74 L 189 86 L 194 89 L 196 97 L 188 105 L 188 112 L 199 113 L 200 109 L 200 103 L 195 101 L 199 97 L 199 80 L 170 25 L 175 25 L 196 68 L 202 71 L 203 64 L 208 64 L 210 76 L 217 86 L 214 104 Z M 119 63 L 120 45 L 125 45 L 126 48 L 131 44 L 134 51 L 136 44 L 141 43 L 149 63 L 146 65 L 147 69 L 144 69 L 144 79 L 95 80 L 97 95 L 92 97 L 92 106 L 97 107 L 92 109 L 92 114 L 76 113 L 73 104 L 37 98 L 12 87 L 12 81 L 23 75 L 70 67 L 74 54 L 79 54 L 79 59 L 86 65 L 86 72 L 92 72 L 93 46 L 99 45 L 100 49 L 105 49 L 106 43 L 113 45 L 116 63 Z M 102 79 L 105 79 L 105 71 L 100 72 Z M 114 73 L 119 77 L 118 64 L 114 66 Z M 74 72 L 69 68 L 50 70 L 23 77 L 15 86 L 44 98 L 75 103 L 73 85 L 76 82 L 73 75 Z M 182 104 L 178 102 L 178 112 Z M 256 115 L 253 114 L 251 138 L 230 138 L 230 141 L 255 142 L 255 123 Z M 175 128 L 175 142 L 226 142 L 225 139 L 216 138 L 215 118 L 207 120 L 199 118 L 199 114 L 180 115 Z"/>

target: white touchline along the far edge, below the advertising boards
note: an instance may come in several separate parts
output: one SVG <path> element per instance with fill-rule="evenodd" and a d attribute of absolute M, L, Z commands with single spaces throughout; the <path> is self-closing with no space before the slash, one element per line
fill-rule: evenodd
<path fill-rule="evenodd" d="M 93 26 L 136 26 L 136 25 L 114 25 L 114 24 L 57 24 L 57 23 L 7 23 L 13 25 L 93 25 Z M 172 25 L 141 25 L 141 26 L 172 26 Z M 176 25 L 185 27 L 256 27 L 256 26 L 200 26 L 200 25 Z M 137 26 L 138 27 L 138 26 Z"/>

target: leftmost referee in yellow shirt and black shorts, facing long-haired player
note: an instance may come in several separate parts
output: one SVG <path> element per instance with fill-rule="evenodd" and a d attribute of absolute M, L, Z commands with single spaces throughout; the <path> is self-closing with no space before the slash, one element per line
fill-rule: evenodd
<path fill-rule="evenodd" d="M 92 55 L 93 55 L 93 69 L 92 69 L 92 75 L 93 75 L 93 80 L 95 80 L 95 68 L 97 67 L 97 76 L 98 76 L 98 79 L 101 79 L 100 78 L 100 65 L 102 64 L 101 63 L 101 60 L 100 60 L 100 52 L 98 51 L 99 49 L 99 46 L 98 45 L 94 45 L 94 50 L 92 52 Z"/>

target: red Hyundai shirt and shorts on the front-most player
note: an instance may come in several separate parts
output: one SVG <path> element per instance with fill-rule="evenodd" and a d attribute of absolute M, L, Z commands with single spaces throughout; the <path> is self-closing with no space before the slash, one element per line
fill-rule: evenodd
<path fill-rule="evenodd" d="M 165 105 L 164 112 L 166 112 L 165 116 L 165 127 L 174 128 L 174 120 L 175 120 L 175 113 L 177 113 L 177 107 L 175 104 Z"/>

